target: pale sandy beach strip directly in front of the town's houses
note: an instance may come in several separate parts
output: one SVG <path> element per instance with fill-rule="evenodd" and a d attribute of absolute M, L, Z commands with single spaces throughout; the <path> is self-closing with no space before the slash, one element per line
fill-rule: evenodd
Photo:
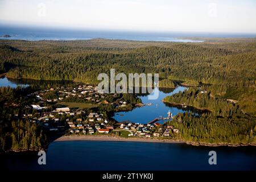
<path fill-rule="evenodd" d="M 96 135 L 72 135 L 63 136 L 54 140 L 54 142 L 63 141 L 113 141 L 113 142 L 158 142 L 158 143 L 184 143 L 183 141 L 168 140 L 168 139 L 154 139 L 154 138 L 123 138 L 112 136 L 96 136 Z"/>

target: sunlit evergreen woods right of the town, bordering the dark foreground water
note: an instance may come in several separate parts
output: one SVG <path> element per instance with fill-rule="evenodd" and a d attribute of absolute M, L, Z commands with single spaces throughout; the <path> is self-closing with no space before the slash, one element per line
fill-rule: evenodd
<path fill-rule="evenodd" d="M 204 144 L 256 143 L 256 121 L 247 115 L 233 117 L 196 116 L 179 113 L 168 124 L 180 130 L 175 139 Z"/>

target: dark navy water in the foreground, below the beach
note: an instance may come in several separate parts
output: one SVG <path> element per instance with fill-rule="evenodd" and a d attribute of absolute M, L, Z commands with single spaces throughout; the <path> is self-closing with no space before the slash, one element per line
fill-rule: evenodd
<path fill-rule="evenodd" d="M 209 165 L 209 151 L 217 165 Z M 196 147 L 175 143 L 68 141 L 53 142 L 46 165 L 36 153 L 0 155 L 10 170 L 255 170 L 255 147 Z"/>

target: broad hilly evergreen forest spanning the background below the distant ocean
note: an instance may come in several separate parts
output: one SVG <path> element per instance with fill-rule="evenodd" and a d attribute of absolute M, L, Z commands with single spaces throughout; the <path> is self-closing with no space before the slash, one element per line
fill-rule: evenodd
<path fill-rule="evenodd" d="M 0 68 L 2 72 L 8 71 L 8 77 L 39 80 L 96 82 L 98 73 L 115 68 L 125 73 L 160 73 L 161 77 L 174 80 L 252 86 L 256 60 L 256 40 L 253 40 L 217 43 L 1 40 Z"/>

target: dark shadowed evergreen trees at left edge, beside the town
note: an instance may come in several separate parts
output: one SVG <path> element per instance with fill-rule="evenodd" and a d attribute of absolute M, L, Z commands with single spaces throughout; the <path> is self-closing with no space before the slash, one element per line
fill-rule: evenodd
<path fill-rule="evenodd" d="M 47 138 L 38 124 L 28 119 L 16 119 L 13 113 L 31 113 L 26 97 L 31 88 L 0 88 L 0 152 L 14 150 L 37 151 L 46 148 Z"/>

